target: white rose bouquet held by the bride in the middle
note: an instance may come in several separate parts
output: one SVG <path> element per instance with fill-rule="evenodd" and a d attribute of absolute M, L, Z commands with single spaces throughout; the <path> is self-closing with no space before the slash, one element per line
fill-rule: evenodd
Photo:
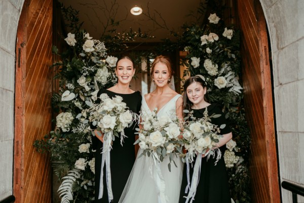
<path fill-rule="evenodd" d="M 151 114 L 141 112 L 140 116 L 142 128 L 136 128 L 139 139 L 134 143 L 138 143 L 143 150 L 140 156 L 151 156 L 157 164 L 168 155 L 168 168 L 171 171 L 171 161 L 175 164 L 174 156 L 177 156 L 177 153 L 182 154 L 179 119 L 176 117 L 172 120 L 169 116 L 158 117 L 156 110 Z"/>

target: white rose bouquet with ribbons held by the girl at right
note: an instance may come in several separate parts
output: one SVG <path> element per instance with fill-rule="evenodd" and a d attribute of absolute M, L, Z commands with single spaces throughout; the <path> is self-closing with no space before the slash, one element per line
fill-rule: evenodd
<path fill-rule="evenodd" d="M 183 132 L 182 132 L 182 141 L 184 143 L 184 148 L 187 150 L 187 153 L 185 155 L 185 159 L 183 159 L 186 162 L 187 165 L 187 187 L 185 193 L 188 192 L 188 196 L 186 197 L 186 201 L 190 202 L 193 201 L 197 185 L 199 183 L 199 177 L 200 177 L 200 169 L 202 164 L 202 155 L 207 156 L 209 158 L 211 155 L 215 157 L 215 152 L 217 151 L 217 157 L 215 164 L 221 157 L 221 152 L 217 147 L 217 143 L 219 142 L 219 138 L 221 135 L 219 134 L 220 129 L 224 128 L 225 125 L 221 125 L 220 127 L 212 124 L 210 121 L 210 118 L 217 118 L 220 115 L 212 115 L 208 116 L 207 108 L 204 112 L 204 117 L 200 119 L 196 119 L 193 117 L 192 113 L 188 110 L 184 110 L 185 113 L 188 113 L 189 116 L 184 118 L 184 124 L 183 124 Z M 189 117 L 191 119 L 189 119 Z M 194 161 L 194 157 L 197 155 L 194 170 L 193 170 L 193 176 L 192 181 L 190 184 L 189 180 L 189 162 Z"/>

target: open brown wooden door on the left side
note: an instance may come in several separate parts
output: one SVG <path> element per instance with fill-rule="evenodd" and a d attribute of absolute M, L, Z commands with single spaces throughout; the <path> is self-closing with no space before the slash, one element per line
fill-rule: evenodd
<path fill-rule="evenodd" d="M 15 148 L 18 141 L 22 156 L 14 158 L 16 202 L 51 202 L 50 159 L 37 153 L 33 142 L 51 130 L 52 10 L 53 0 L 26 0 L 19 21 L 23 44 L 21 67 L 16 67 Z"/>

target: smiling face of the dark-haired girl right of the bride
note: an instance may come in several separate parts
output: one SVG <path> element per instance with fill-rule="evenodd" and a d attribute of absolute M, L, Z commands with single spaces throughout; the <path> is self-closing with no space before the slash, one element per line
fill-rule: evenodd
<path fill-rule="evenodd" d="M 186 89 L 188 99 L 193 103 L 193 105 L 200 105 L 204 103 L 204 95 L 206 94 L 207 88 L 203 87 L 198 82 L 193 82 Z"/>

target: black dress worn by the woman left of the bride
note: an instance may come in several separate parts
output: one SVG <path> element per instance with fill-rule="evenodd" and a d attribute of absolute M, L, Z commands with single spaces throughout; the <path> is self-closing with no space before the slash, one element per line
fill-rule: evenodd
<path fill-rule="evenodd" d="M 141 108 L 141 94 L 136 91 L 131 94 L 119 94 L 111 92 L 107 89 L 101 89 L 98 92 L 98 96 L 102 93 L 106 93 L 110 98 L 119 95 L 123 97 L 123 102 L 127 104 L 129 110 L 139 114 Z M 100 100 L 99 100 L 100 101 Z M 98 100 L 97 100 L 98 102 Z M 123 193 L 124 187 L 127 183 L 129 175 L 132 171 L 133 164 L 135 162 L 135 135 L 136 132 L 135 122 L 131 127 L 125 128 L 125 135 L 128 138 L 124 139 L 123 146 L 120 144 L 120 138 L 115 139 L 112 143 L 112 149 L 110 151 L 110 168 L 111 168 L 111 181 L 112 181 L 112 192 L 113 200 L 111 202 L 118 202 L 121 194 Z M 95 202 L 108 202 L 108 194 L 106 187 L 105 178 L 105 166 L 103 168 L 103 196 L 98 199 L 99 194 L 99 182 L 100 182 L 100 172 L 101 172 L 101 157 L 102 157 L 102 142 L 98 138 L 92 138 L 93 149 L 95 152 Z"/>

